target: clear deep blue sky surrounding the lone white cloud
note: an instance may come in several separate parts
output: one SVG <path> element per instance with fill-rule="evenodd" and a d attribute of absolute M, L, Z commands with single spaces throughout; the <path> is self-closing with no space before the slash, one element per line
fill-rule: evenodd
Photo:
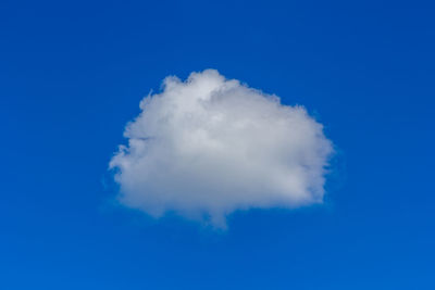
<path fill-rule="evenodd" d="M 3 1 L 0 289 L 434 289 L 435 7 Z M 114 204 L 108 163 L 167 75 L 303 104 L 337 154 L 323 205 L 224 232 Z"/>

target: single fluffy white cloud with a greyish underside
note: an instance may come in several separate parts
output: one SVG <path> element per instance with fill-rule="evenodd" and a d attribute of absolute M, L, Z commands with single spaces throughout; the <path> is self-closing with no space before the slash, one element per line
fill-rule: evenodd
<path fill-rule="evenodd" d="M 303 106 L 207 70 L 166 77 L 140 109 L 110 162 L 124 205 L 225 227 L 237 210 L 323 201 L 332 142 Z"/>

